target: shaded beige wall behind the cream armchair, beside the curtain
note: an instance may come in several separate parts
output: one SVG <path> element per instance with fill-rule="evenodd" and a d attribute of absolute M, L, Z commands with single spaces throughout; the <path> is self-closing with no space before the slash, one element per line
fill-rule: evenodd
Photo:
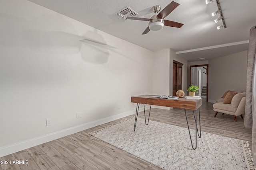
<path fill-rule="evenodd" d="M 247 51 L 209 60 L 209 102 L 227 90 L 246 91 Z"/>

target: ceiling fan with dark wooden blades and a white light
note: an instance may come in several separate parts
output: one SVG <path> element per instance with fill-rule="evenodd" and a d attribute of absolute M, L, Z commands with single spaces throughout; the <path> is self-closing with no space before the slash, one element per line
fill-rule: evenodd
<path fill-rule="evenodd" d="M 182 27 L 183 23 L 178 23 L 174 21 L 164 20 L 166 16 L 168 16 L 175 8 L 177 8 L 180 4 L 177 2 L 172 1 L 170 4 L 168 4 L 161 12 L 161 6 L 153 6 L 152 11 L 155 13 L 154 16 L 149 18 L 138 18 L 138 17 L 127 17 L 128 20 L 140 20 L 140 21 L 149 21 L 148 27 L 145 29 L 145 31 L 142 33 L 146 34 L 150 30 L 152 31 L 158 31 L 164 27 L 164 25 L 169 27 Z M 159 12 L 159 14 L 157 14 Z"/>

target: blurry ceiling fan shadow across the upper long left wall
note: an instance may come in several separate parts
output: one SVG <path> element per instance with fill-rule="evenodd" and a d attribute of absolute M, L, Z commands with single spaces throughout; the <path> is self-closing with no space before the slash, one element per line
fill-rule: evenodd
<path fill-rule="evenodd" d="M 78 35 L 74 26 L 61 14 L 44 14 L 32 20 L 2 13 L 0 16 L 3 46 L 30 47 L 32 51 L 46 55 L 80 54 L 84 61 L 93 64 L 107 63 L 110 51 L 118 57 L 134 60 L 108 45 L 97 29 Z M 120 43 L 122 41 L 118 43 L 119 47 Z"/>

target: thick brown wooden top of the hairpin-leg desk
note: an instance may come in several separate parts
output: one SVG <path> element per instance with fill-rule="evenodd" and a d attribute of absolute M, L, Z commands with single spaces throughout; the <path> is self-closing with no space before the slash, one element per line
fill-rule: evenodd
<path fill-rule="evenodd" d="M 132 103 L 140 103 L 140 104 L 150 104 L 156 106 L 166 106 L 166 107 L 174 107 L 174 108 L 181 108 L 181 109 L 191 109 L 196 110 L 200 106 L 202 106 L 202 99 L 185 99 L 185 98 L 178 98 L 176 100 L 172 99 L 160 99 L 160 98 L 150 98 L 151 96 L 156 95 L 140 95 L 140 96 L 132 96 L 131 102 Z"/>

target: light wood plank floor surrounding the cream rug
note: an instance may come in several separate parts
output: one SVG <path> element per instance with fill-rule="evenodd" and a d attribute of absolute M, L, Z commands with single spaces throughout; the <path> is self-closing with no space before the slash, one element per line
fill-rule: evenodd
<path fill-rule="evenodd" d="M 214 117 L 214 113 L 212 103 L 204 101 L 203 106 L 200 107 L 202 131 L 246 140 L 249 141 L 251 146 L 252 130 L 244 128 L 244 119 L 237 117 L 237 122 L 235 122 L 232 115 L 218 113 Z M 88 135 L 88 132 L 132 116 L 134 115 L 4 156 L 0 158 L 0 161 L 28 160 L 28 164 L 1 164 L 0 170 L 161 169 Z M 139 117 L 144 118 L 144 114 L 139 113 Z M 188 118 L 193 123 L 191 112 L 188 113 Z M 183 109 L 164 110 L 153 108 L 150 120 L 187 127 Z"/>

